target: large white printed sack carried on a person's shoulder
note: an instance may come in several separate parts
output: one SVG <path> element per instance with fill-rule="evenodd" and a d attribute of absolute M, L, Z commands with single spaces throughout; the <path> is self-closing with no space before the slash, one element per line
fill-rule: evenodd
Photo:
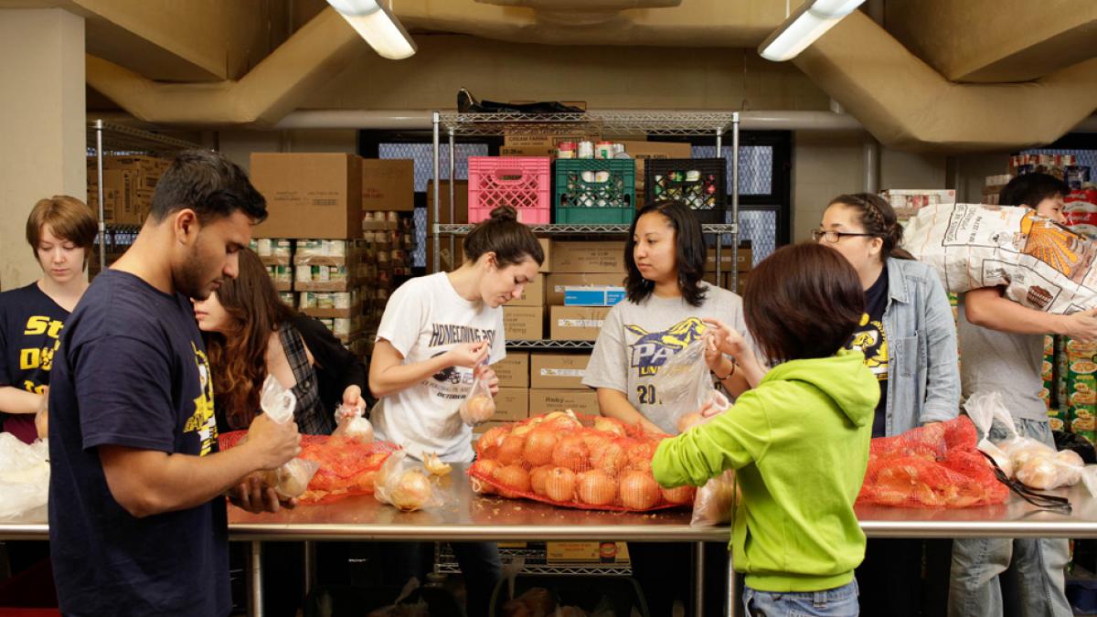
<path fill-rule="evenodd" d="M 1097 306 L 1097 245 L 1031 209 L 928 205 L 903 236 L 950 292 L 1005 285 L 1010 300 L 1063 315 Z"/>

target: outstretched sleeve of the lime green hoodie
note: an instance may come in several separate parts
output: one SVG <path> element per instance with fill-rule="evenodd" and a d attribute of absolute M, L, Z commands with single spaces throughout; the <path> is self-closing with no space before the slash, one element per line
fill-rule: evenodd
<path fill-rule="evenodd" d="M 664 486 L 700 486 L 727 469 L 760 461 L 770 431 L 761 397 L 755 391 L 746 392 L 727 412 L 664 439 L 652 459 L 652 473 Z"/>

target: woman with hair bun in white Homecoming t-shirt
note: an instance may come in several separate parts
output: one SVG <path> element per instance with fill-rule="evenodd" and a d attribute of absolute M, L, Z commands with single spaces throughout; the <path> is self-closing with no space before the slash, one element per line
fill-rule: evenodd
<path fill-rule="evenodd" d="M 434 452 L 443 461 L 472 462 L 472 429 L 459 407 L 475 380 L 498 391 L 489 366 L 507 355 L 502 305 L 522 295 L 544 261 L 541 244 L 510 206 L 491 211 L 463 246 L 460 268 L 412 279 L 393 293 L 370 363 L 370 390 L 380 400 L 371 414 L 377 438 L 419 459 Z M 432 554 L 420 559 L 421 547 L 386 551 L 385 569 L 423 580 Z M 453 551 L 465 576 L 468 615 L 487 615 L 500 577 L 496 545 L 454 543 Z M 409 563 L 402 562 L 405 557 Z"/>

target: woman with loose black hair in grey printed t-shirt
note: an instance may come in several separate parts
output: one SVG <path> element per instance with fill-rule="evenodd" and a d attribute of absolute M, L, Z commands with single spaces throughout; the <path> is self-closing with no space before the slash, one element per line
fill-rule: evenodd
<path fill-rule="evenodd" d="M 681 202 L 657 201 L 641 209 L 629 232 L 624 259 L 627 299 L 607 315 L 583 383 L 598 391 L 603 416 L 677 435 L 679 418 L 697 410 L 661 400 L 655 379 L 659 367 L 701 339 L 709 327 L 705 321 L 734 328 L 749 341 L 743 299 L 702 281 L 704 236 L 697 216 Z M 748 388 L 750 375 L 745 373 L 757 367 L 757 362 L 740 367 L 719 352 L 706 354 L 705 362 L 732 395 Z M 688 592 L 691 545 L 630 542 L 629 554 L 649 614 L 670 615 L 676 598 L 687 605 L 687 615 L 695 614 Z M 726 547 L 720 542 L 705 545 L 705 554 L 710 563 L 727 563 Z M 709 585 L 705 593 L 714 614 L 726 595 L 719 586 Z"/>

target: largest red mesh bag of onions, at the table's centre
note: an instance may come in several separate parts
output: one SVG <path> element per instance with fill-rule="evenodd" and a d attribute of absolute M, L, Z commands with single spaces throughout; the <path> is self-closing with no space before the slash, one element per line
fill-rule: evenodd
<path fill-rule="evenodd" d="M 553 412 L 484 433 L 468 478 L 478 493 L 565 507 L 691 506 L 693 486 L 663 489 L 652 476 L 655 448 L 667 437 L 612 418 Z"/>

